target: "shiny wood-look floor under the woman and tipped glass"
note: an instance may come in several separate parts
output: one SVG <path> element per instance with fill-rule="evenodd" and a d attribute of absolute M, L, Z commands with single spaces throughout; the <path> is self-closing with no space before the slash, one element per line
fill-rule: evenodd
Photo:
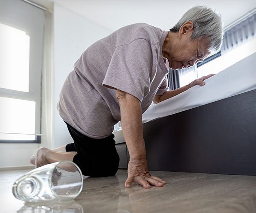
<path fill-rule="evenodd" d="M 15 199 L 12 184 L 28 170 L 0 172 L 0 212 L 58 213 L 256 213 L 256 176 L 151 172 L 164 187 L 125 189 L 126 170 L 106 178 L 85 178 L 73 202 L 29 205 Z"/>

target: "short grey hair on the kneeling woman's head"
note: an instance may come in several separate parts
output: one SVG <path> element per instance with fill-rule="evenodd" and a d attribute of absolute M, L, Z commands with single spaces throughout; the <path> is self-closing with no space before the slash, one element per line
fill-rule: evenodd
<path fill-rule="evenodd" d="M 206 38 L 211 55 L 218 52 L 223 40 L 223 23 L 221 15 L 208 8 L 207 6 L 195 6 L 189 9 L 170 29 L 171 32 L 179 32 L 180 27 L 186 22 L 191 21 L 194 29 L 191 35 L 192 40 L 201 40 Z"/>

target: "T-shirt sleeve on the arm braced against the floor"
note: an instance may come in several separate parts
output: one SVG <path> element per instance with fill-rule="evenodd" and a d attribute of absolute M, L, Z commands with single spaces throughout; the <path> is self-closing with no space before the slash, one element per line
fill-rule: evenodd
<path fill-rule="evenodd" d="M 145 39 L 116 47 L 102 85 L 127 92 L 141 102 L 150 90 L 154 54 L 155 46 Z"/>

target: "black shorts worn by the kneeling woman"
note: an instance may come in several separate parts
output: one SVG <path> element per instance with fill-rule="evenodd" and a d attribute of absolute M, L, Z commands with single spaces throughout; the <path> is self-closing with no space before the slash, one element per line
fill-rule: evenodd
<path fill-rule="evenodd" d="M 67 144 L 66 151 L 77 152 L 73 162 L 79 166 L 84 176 L 104 177 L 116 174 L 119 155 L 113 134 L 107 138 L 94 139 L 81 134 L 69 124 L 67 128 L 74 143 Z"/>

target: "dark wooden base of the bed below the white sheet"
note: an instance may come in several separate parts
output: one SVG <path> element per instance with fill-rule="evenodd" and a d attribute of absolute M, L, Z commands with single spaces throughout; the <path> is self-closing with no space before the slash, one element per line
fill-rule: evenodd
<path fill-rule="evenodd" d="M 114 134 L 127 168 L 122 132 Z M 145 123 L 143 136 L 148 170 L 255 176 L 256 89 Z"/>

